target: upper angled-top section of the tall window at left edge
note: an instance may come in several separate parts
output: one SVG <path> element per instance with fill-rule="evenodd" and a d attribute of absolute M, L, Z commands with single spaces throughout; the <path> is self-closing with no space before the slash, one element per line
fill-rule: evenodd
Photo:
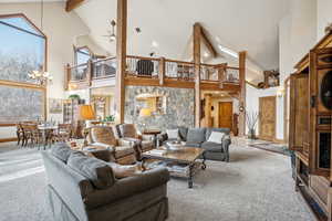
<path fill-rule="evenodd" d="M 23 14 L 0 15 L 0 80 L 35 83 L 33 70 L 46 69 L 46 38 Z"/>

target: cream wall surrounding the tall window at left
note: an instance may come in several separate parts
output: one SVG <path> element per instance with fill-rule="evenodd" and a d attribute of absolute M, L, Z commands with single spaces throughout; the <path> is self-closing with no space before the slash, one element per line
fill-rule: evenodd
<path fill-rule="evenodd" d="M 0 3 L 0 14 L 24 13 L 40 27 L 40 3 Z M 73 62 L 73 43 L 77 35 L 89 34 L 89 28 L 74 13 L 64 10 L 64 2 L 44 3 L 44 30 L 48 36 L 48 71 L 53 82 L 48 87 L 48 97 L 64 98 L 64 65 Z M 62 114 L 48 115 L 62 120 Z M 14 128 L 0 128 L 0 138 L 14 137 Z"/>

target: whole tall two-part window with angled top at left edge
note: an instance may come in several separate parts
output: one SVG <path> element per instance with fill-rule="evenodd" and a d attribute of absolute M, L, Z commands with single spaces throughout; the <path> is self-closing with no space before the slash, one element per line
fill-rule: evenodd
<path fill-rule="evenodd" d="M 45 117 L 45 88 L 28 73 L 45 70 L 46 38 L 23 14 L 0 15 L 0 125 Z"/>

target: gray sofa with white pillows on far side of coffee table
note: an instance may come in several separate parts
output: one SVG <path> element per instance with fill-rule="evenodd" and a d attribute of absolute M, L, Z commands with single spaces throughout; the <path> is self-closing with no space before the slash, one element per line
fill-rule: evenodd
<path fill-rule="evenodd" d="M 228 128 L 187 128 L 178 127 L 179 139 L 186 143 L 188 147 L 199 147 L 204 148 L 205 158 L 211 160 L 229 161 L 229 145 L 231 139 L 229 136 L 230 130 Z M 222 138 L 221 144 L 207 141 L 212 131 L 225 133 L 226 136 Z M 169 139 L 167 134 L 164 133 L 158 136 L 159 145 L 165 145 L 167 141 L 173 141 L 175 139 Z"/>

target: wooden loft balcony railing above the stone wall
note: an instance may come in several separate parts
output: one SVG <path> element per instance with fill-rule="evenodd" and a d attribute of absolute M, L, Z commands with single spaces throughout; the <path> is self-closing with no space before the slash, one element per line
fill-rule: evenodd
<path fill-rule="evenodd" d="M 82 90 L 115 85 L 116 57 L 65 67 L 65 90 Z M 195 87 L 193 62 L 165 57 L 126 57 L 126 85 Z M 239 92 L 239 67 L 224 64 L 200 64 L 200 88 L 209 91 Z"/>

